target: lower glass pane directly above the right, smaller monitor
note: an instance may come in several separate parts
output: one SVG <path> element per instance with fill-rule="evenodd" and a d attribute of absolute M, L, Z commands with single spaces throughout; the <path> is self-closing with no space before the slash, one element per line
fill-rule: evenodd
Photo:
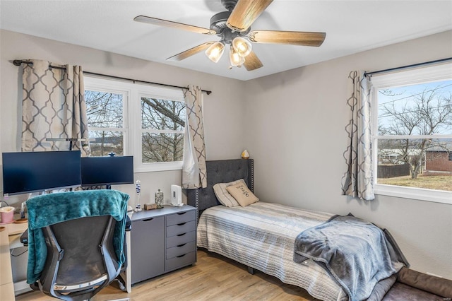
<path fill-rule="evenodd" d="M 124 155 L 124 134 L 121 131 L 90 131 L 91 155 L 105 156 L 108 153 Z"/>

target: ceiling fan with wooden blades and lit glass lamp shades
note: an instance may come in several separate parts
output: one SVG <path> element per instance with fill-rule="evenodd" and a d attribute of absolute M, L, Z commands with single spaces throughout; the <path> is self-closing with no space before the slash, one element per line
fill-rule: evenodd
<path fill-rule="evenodd" d="M 245 66 L 251 71 L 263 66 L 251 49 L 251 42 L 273 43 L 319 47 L 326 33 L 279 30 L 251 30 L 251 24 L 266 10 L 273 0 L 221 0 L 227 11 L 216 13 L 210 18 L 210 28 L 177 23 L 148 16 L 137 16 L 133 20 L 152 25 L 189 30 L 205 35 L 218 35 L 220 41 L 205 42 L 184 52 L 167 58 L 169 61 L 182 61 L 198 52 L 206 50 L 207 57 L 218 62 L 226 45 L 230 45 L 230 68 Z"/>

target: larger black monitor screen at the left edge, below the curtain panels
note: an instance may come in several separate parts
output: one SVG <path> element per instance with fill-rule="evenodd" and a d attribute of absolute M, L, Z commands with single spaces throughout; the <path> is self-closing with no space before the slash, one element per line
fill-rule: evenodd
<path fill-rule="evenodd" d="M 4 194 L 80 186 L 80 157 L 80 151 L 3 153 Z"/>

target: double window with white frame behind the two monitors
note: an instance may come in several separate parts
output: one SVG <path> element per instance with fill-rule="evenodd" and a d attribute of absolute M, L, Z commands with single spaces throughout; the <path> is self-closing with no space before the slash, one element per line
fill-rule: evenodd
<path fill-rule="evenodd" d="M 182 90 L 85 76 L 92 155 L 133 155 L 135 172 L 182 169 Z"/>

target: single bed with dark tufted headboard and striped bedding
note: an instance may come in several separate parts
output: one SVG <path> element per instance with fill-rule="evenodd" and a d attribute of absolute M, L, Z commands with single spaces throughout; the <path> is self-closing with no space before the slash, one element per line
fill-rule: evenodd
<path fill-rule="evenodd" d="M 262 201 L 246 207 L 222 206 L 213 186 L 244 179 L 254 191 L 254 161 L 216 160 L 206 162 L 206 166 L 208 187 L 189 190 L 187 198 L 198 212 L 198 247 L 234 259 L 248 266 L 250 272 L 256 269 L 304 288 L 320 300 L 349 300 L 349 292 L 326 268 L 310 258 L 294 261 L 297 236 L 325 224 L 333 214 Z M 380 281 L 375 285 L 377 293 L 383 290 L 379 295 L 384 295 L 395 281 L 395 275 Z"/>

